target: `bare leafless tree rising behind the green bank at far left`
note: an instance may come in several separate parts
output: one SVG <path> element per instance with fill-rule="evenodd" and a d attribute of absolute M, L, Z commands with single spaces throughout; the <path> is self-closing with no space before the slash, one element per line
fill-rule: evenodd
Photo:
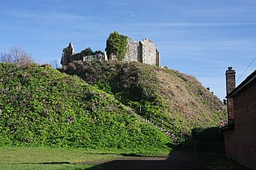
<path fill-rule="evenodd" d="M 10 51 L 1 50 L 1 61 L 7 63 L 14 63 L 15 65 L 24 65 L 34 61 L 30 53 L 26 53 L 22 47 L 14 46 Z"/>

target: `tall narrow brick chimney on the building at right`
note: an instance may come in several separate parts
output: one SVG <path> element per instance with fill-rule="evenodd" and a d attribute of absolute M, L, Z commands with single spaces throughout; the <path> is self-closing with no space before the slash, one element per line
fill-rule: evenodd
<path fill-rule="evenodd" d="M 226 95 L 228 95 L 235 88 L 235 71 L 232 67 L 228 67 L 226 70 Z M 227 113 L 228 123 L 234 122 L 234 105 L 233 99 L 227 97 Z"/>

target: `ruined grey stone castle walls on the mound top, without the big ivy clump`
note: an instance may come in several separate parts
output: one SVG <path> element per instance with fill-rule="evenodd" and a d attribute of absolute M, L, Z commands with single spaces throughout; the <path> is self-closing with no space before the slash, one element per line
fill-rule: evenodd
<path fill-rule="evenodd" d="M 70 45 L 63 49 L 62 51 L 62 61 L 63 66 L 68 65 L 70 62 L 74 61 L 138 61 L 149 65 L 160 66 L 160 53 L 157 49 L 157 46 L 154 42 L 144 39 L 140 42 L 135 42 L 132 38 L 126 37 L 126 53 L 122 59 L 118 59 L 115 53 L 110 53 L 109 56 L 104 53 L 99 52 L 88 55 L 86 50 L 81 51 L 80 53 L 74 52 L 74 46 L 72 42 Z"/>

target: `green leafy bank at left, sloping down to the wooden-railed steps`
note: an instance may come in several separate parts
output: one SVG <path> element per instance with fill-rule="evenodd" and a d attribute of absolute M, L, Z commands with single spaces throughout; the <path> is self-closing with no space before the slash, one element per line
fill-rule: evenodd
<path fill-rule="evenodd" d="M 0 63 L 0 146 L 166 148 L 113 95 L 50 66 Z"/>

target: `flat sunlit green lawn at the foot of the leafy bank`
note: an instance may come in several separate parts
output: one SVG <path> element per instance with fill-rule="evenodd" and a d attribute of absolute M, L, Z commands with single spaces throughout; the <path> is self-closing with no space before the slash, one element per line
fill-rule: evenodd
<path fill-rule="evenodd" d="M 94 164 L 84 162 L 112 160 L 124 154 L 134 154 L 132 150 L 121 149 L 18 147 L 0 148 L 0 152 L 0 169 L 86 169 Z M 169 152 L 148 152 L 146 155 L 167 155 Z"/>

